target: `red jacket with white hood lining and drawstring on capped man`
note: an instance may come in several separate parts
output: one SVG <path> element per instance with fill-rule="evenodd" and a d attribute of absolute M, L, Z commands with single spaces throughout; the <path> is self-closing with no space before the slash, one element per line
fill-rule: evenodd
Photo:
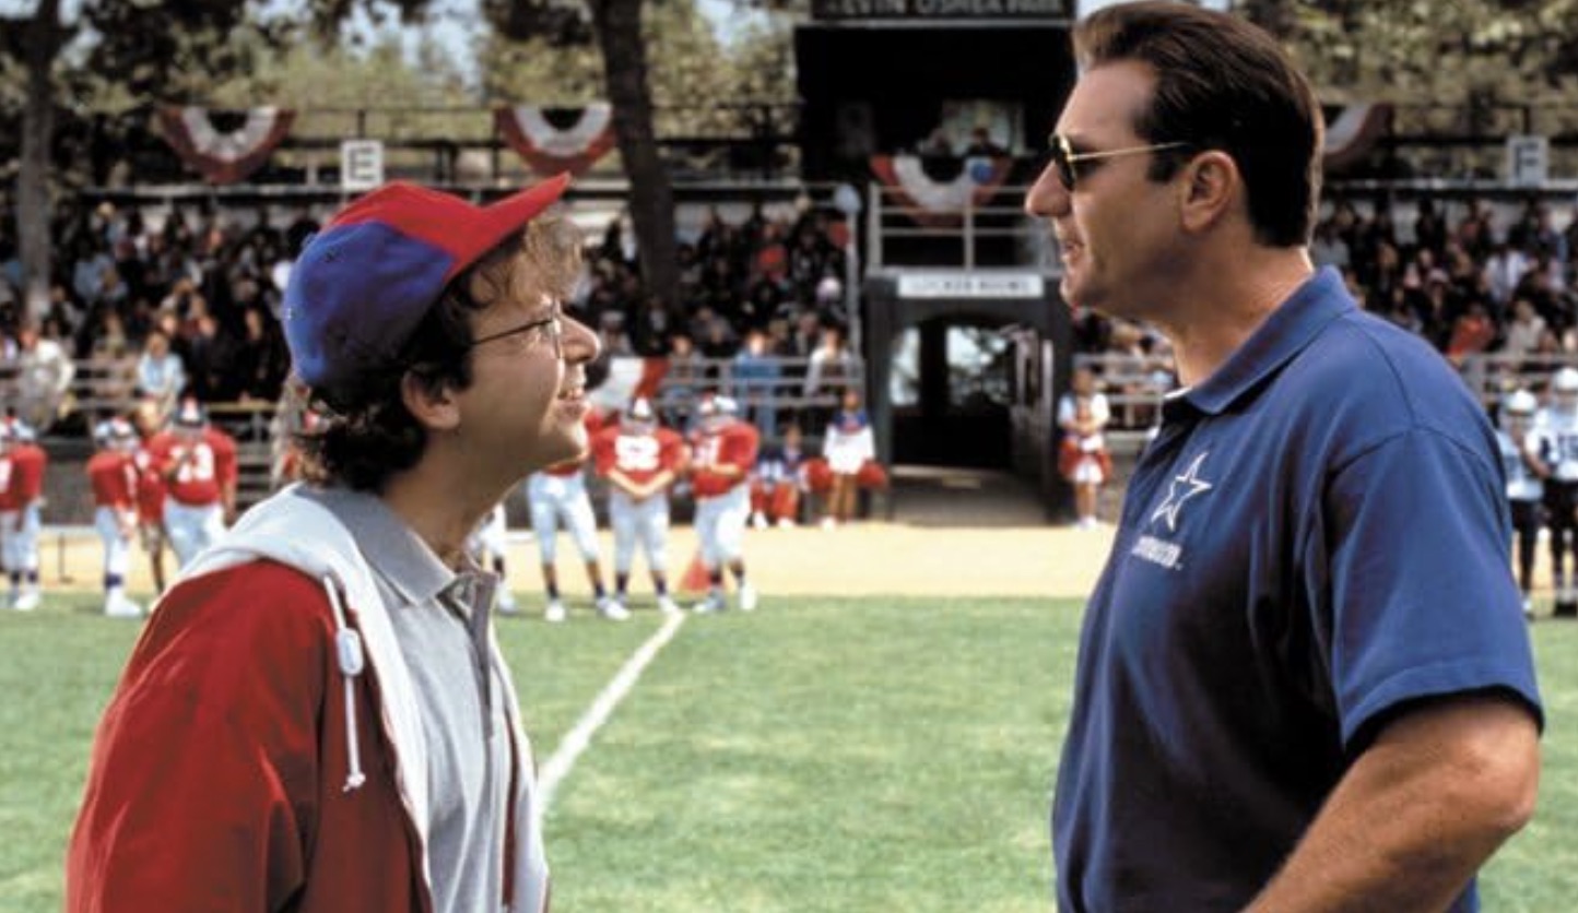
<path fill-rule="evenodd" d="M 368 606 L 368 571 L 335 563 L 353 542 L 320 533 L 344 528 L 320 508 L 268 509 L 290 492 L 248 511 L 188 568 L 133 650 L 66 852 L 68 913 L 431 910 L 417 825 L 426 760 L 399 648 L 382 609 Z M 270 516 L 284 522 L 271 527 Z M 319 535 L 282 538 L 300 530 Z M 297 569 L 260 557 L 270 549 L 309 557 Z M 314 557 L 327 563 L 308 572 Z M 346 621 L 368 658 L 360 675 L 339 670 L 319 574 L 346 582 Z M 518 725 L 513 702 L 510 711 Z M 543 913 L 530 747 L 514 732 L 505 891 L 511 910 Z M 358 770 L 365 781 L 347 788 Z"/>

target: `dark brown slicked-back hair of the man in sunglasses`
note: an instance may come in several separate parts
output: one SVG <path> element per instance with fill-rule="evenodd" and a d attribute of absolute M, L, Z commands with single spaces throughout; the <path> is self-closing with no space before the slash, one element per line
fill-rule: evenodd
<path fill-rule="evenodd" d="M 1275 248 L 1310 243 L 1324 123 L 1310 80 L 1270 35 L 1226 13 L 1149 0 L 1090 14 L 1073 43 L 1083 69 L 1136 60 L 1155 73 L 1135 132 L 1188 147 L 1158 153 L 1152 180 L 1202 150 L 1225 151 L 1243 175 L 1255 237 Z"/>

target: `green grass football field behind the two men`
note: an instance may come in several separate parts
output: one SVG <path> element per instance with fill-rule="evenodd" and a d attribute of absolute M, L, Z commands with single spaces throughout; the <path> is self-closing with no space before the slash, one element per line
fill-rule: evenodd
<path fill-rule="evenodd" d="M 136 637 L 92 601 L 0 613 L 0 910 L 60 908 L 88 743 Z M 783 599 L 688 618 L 560 784 L 554 908 L 1045 911 L 1078 604 Z M 507 620 L 538 760 L 658 628 Z M 1534 628 L 1539 815 L 1486 910 L 1578 896 L 1578 624 Z"/>

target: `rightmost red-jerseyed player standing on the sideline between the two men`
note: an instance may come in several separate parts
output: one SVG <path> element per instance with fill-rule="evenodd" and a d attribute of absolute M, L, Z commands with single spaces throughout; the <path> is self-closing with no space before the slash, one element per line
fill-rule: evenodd
<path fill-rule="evenodd" d="M 699 613 L 723 612 L 723 571 L 734 572 L 740 610 L 756 609 L 756 588 L 745 579 L 745 522 L 751 516 L 751 467 L 761 435 L 740 421 L 739 405 L 727 396 L 701 401 L 701 429 L 691 448 L 691 489 L 696 492 L 696 535 L 701 563 L 707 568 L 707 598 Z"/>

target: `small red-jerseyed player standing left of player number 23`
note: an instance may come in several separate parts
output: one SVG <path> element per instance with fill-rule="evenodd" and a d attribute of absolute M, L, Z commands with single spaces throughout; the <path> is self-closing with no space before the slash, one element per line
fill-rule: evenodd
<path fill-rule="evenodd" d="M 93 528 L 104 544 L 104 615 L 140 618 L 142 606 L 126 596 L 131 544 L 137 536 L 137 432 L 114 418 L 93 429 L 98 453 L 88 457 Z"/>

